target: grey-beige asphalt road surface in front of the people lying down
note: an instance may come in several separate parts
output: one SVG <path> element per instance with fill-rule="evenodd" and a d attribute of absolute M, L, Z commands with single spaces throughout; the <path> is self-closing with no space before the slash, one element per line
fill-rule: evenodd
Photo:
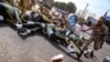
<path fill-rule="evenodd" d="M 9 27 L 0 27 L 0 62 L 51 62 L 56 54 L 64 54 L 65 62 L 77 62 L 76 55 L 69 56 L 66 49 L 53 43 L 46 37 L 36 33 L 21 38 L 16 31 Z M 97 59 L 81 58 L 84 62 L 102 62 L 103 58 L 110 55 L 110 45 L 95 52 Z"/>

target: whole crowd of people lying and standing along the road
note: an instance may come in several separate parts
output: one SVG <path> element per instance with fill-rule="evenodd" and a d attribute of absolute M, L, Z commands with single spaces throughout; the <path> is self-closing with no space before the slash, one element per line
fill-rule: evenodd
<path fill-rule="evenodd" d="M 54 42 L 64 45 L 67 53 L 79 53 L 74 49 L 75 43 L 87 56 L 94 55 L 92 51 L 102 48 L 108 29 L 105 25 L 105 17 L 99 20 L 85 23 L 69 11 L 61 12 L 55 6 L 48 6 L 45 0 L 30 0 L 26 10 L 20 8 L 19 3 L 0 2 L 0 21 L 11 23 L 21 35 L 41 32 Z M 85 35 L 86 33 L 87 35 Z M 88 45 L 94 42 L 94 49 Z M 81 49 L 82 48 L 82 49 Z"/>

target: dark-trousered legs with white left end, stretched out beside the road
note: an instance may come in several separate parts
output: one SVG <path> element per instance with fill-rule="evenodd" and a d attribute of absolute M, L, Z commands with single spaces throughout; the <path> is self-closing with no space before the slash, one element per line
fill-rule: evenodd
<path fill-rule="evenodd" d="M 35 33 L 36 31 L 42 32 L 43 28 L 41 25 L 41 23 L 34 23 L 34 24 L 16 24 L 18 29 L 18 33 L 25 33 L 25 34 L 30 34 L 30 33 Z"/>

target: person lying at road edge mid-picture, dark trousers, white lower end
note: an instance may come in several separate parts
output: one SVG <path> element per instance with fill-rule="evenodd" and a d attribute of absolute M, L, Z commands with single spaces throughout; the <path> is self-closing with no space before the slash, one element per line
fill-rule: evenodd
<path fill-rule="evenodd" d="M 65 38 L 61 34 L 62 31 L 61 29 L 54 29 L 55 24 L 47 24 L 46 27 L 46 32 L 47 32 L 47 35 L 51 40 L 55 41 L 55 42 L 59 42 L 62 43 L 64 46 L 67 48 L 67 53 L 73 53 L 73 52 L 76 52 L 74 50 L 74 46 L 68 42 L 68 38 Z M 59 34 L 61 33 L 61 34 Z"/>

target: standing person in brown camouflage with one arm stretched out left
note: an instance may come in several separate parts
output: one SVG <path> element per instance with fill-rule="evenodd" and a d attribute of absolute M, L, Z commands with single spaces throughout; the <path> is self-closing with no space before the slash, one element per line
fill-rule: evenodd
<path fill-rule="evenodd" d="M 102 48 L 103 42 L 106 41 L 106 35 L 108 33 L 108 28 L 105 25 L 105 17 L 101 17 L 98 22 L 91 27 L 88 30 L 94 30 L 92 31 L 92 41 L 94 43 L 94 49 L 98 50 Z M 85 30 L 85 31 L 88 31 Z"/>

